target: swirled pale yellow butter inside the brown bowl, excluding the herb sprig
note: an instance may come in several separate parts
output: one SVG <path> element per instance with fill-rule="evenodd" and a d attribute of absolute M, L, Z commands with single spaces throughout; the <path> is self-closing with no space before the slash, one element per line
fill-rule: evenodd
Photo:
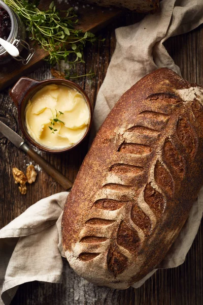
<path fill-rule="evenodd" d="M 56 113 L 64 124 L 59 121 L 51 124 Z M 28 101 L 25 109 L 29 135 L 39 144 L 53 149 L 79 142 L 88 129 L 89 121 L 89 107 L 82 94 L 64 85 L 44 86 Z M 49 127 L 56 131 L 52 133 Z"/>

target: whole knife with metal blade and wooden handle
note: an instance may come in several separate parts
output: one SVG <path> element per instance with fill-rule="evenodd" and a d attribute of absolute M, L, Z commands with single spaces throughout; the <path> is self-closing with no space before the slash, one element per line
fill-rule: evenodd
<path fill-rule="evenodd" d="M 38 163 L 55 181 L 57 181 L 65 190 L 69 190 L 73 183 L 63 176 L 57 169 L 45 161 L 34 150 L 32 150 L 24 139 L 21 138 L 15 131 L 0 121 L 0 132 L 7 137 L 15 146 L 22 149 L 27 155 Z"/>

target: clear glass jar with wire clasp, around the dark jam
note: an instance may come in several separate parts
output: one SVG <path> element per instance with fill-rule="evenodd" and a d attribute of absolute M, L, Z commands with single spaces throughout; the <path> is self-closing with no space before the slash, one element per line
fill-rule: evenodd
<path fill-rule="evenodd" d="M 18 57 L 13 57 L 8 54 L 7 51 L 0 45 L 0 65 L 7 64 L 12 58 L 18 60 L 19 62 L 22 62 L 23 65 L 26 65 L 35 53 L 35 50 L 31 49 L 28 43 L 25 41 L 24 24 L 22 23 L 19 16 L 14 12 L 14 10 L 12 10 L 2 0 L 0 0 L 0 7 L 2 7 L 5 11 L 8 12 L 9 17 L 11 19 L 11 32 L 7 41 L 15 45 L 18 48 L 19 53 L 23 49 L 26 49 L 25 58 L 21 55 L 19 55 Z"/>

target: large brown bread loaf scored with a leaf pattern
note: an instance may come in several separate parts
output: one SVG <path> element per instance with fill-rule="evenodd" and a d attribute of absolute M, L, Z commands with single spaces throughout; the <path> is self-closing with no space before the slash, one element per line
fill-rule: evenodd
<path fill-rule="evenodd" d="M 203 88 L 158 69 L 106 118 L 62 219 L 65 256 L 82 277 L 125 289 L 166 255 L 203 182 Z"/>

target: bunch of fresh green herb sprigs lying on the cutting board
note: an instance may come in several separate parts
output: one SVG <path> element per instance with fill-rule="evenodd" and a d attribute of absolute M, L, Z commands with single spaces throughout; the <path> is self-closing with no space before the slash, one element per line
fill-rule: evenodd
<path fill-rule="evenodd" d="M 39 0 L 3 0 L 22 19 L 29 32 L 30 39 L 37 41 L 44 50 L 49 52 L 48 61 L 54 65 L 60 64 L 60 60 L 74 65 L 84 63 L 83 48 L 87 41 L 94 42 L 96 37 L 90 32 L 83 33 L 74 26 L 78 22 L 77 15 L 73 8 L 65 13 L 64 17 L 59 15 L 54 2 L 49 10 L 38 9 Z M 70 48 L 67 49 L 67 44 Z M 74 54 L 74 59 L 69 60 L 69 55 Z"/>

